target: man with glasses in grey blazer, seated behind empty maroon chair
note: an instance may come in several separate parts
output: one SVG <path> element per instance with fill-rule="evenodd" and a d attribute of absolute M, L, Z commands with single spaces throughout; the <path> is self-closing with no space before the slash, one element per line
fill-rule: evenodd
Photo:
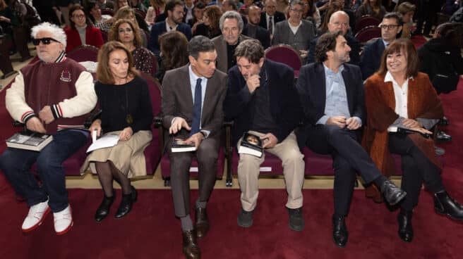
<path fill-rule="evenodd" d="M 302 19 L 303 10 L 304 4 L 301 1 L 291 1 L 288 20 L 275 25 L 272 45 L 288 44 L 305 59 L 308 46 L 315 38 L 315 27 L 310 21 Z"/>

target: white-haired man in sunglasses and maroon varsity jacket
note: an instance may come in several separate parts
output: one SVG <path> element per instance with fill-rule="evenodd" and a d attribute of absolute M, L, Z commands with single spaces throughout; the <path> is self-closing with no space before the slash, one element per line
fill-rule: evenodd
<path fill-rule="evenodd" d="M 87 142 L 83 123 L 97 96 L 90 72 L 66 58 L 64 30 L 41 23 L 32 27 L 31 34 L 40 61 L 20 70 L 6 91 L 6 109 L 28 130 L 52 134 L 53 140 L 40 152 L 7 148 L 0 156 L 0 168 L 30 207 L 23 232 L 39 227 L 52 211 L 60 235 L 73 225 L 62 163 Z M 34 163 L 42 184 L 30 172 Z"/>

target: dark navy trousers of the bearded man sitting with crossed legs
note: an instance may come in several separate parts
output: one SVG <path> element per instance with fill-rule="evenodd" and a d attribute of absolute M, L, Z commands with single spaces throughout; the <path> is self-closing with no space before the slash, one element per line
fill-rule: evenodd
<path fill-rule="evenodd" d="M 335 125 L 317 125 L 308 130 L 306 146 L 315 153 L 332 156 L 335 170 L 335 213 L 347 215 L 356 172 L 359 172 L 367 184 L 380 177 L 381 172 L 359 144 L 359 131 Z"/>

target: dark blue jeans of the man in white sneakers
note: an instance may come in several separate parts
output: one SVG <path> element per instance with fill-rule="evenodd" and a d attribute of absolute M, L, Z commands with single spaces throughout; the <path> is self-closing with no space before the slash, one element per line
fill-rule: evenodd
<path fill-rule="evenodd" d="M 82 147 L 88 138 L 76 130 L 61 130 L 40 152 L 7 148 L 0 156 L 0 168 L 16 193 L 23 196 L 28 206 L 47 201 L 54 213 L 68 206 L 68 192 L 64 179 L 63 162 Z M 40 186 L 30 171 L 37 164 Z"/>

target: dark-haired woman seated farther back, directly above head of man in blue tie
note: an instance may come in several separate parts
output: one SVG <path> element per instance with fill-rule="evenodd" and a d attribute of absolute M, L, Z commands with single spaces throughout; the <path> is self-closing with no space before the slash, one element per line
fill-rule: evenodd
<path fill-rule="evenodd" d="M 203 13 L 203 23 L 200 23 L 196 27 L 196 31 L 193 36 L 203 35 L 209 39 L 215 38 L 222 34 L 219 27 L 220 11 L 219 6 L 207 6 Z"/>

